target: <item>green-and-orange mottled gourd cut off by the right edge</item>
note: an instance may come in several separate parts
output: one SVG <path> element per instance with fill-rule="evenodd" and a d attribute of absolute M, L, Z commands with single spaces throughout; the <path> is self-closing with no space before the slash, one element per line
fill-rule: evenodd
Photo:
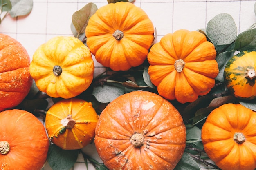
<path fill-rule="evenodd" d="M 256 98 L 256 51 L 243 51 L 231 57 L 224 69 L 228 90 L 238 99 Z"/>

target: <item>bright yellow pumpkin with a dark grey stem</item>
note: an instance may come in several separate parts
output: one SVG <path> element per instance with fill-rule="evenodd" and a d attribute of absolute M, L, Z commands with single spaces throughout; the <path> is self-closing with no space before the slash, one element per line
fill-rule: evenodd
<path fill-rule="evenodd" d="M 29 69 L 40 91 L 68 99 L 90 86 L 94 61 L 78 38 L 56 36 L 36 49 Z"/>

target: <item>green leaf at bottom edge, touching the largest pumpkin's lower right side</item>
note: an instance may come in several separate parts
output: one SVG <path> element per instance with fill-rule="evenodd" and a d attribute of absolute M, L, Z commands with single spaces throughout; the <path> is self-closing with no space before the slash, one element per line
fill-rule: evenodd
<path fill-rule="evenodd" d="M 199 164 L 186 152 L 173 170 L 200 170 Z"/>

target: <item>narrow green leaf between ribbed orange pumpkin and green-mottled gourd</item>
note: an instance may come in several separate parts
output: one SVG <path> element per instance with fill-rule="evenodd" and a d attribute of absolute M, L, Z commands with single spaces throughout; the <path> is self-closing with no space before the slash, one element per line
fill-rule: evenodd
<path fill-rule="evenodd" d="M 231 57 L 234 56 L 234 51 L 225 51 L 223 53 L 220 53 L 219 55 L 216 56 L 216 61 L 218 62 L 219 65 L 219 74 L 215 78 L 219 82 L 224 82 L 224 69 Z"/>

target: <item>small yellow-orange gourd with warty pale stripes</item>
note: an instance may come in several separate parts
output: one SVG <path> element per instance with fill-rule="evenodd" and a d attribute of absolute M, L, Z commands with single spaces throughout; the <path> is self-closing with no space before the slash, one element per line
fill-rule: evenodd
<path fill-rule="evenodd" d="M 63 99 L 47 111 L 45 128 L 52 143 L 60 148 L 81 149 L 93 141 L 98 118 L 91 102 Z"/>

